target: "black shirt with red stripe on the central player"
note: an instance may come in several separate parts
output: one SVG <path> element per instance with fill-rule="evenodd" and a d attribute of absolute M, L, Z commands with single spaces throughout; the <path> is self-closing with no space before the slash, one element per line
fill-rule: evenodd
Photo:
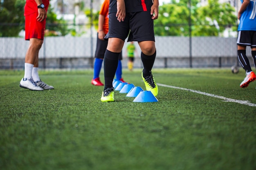
<path fill-rule="evenodd" d="M 152 0 L 124 0 L 124 3 L 125 3 L 127 13 L 148 11 L 153 5 Z M 116 12 L 117 12 L 117 0 L 110 0 L 108 13 L 116 13 Z"/>

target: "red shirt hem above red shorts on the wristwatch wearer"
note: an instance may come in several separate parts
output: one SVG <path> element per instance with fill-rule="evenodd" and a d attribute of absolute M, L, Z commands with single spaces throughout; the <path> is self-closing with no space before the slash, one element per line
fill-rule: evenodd
<path fill-rule="evenodd" d="M 45 11 L 47 11 L 49 7 L 49 0 L 42 0 L 43 4 L 45 5 Z M 24 7 L 24 16 L 30 15 L 32 13 L 37 13 L 38 8 L 35 0 L 26 0 L 26 4 Z"/>

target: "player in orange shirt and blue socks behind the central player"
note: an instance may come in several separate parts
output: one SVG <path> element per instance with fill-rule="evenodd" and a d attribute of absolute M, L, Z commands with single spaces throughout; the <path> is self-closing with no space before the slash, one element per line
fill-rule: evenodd
<path fill-rule="evenodd" d="M 99 23 L 98 23 L 98 33 L 97 33 L 97 46 L 95 51 L 95 60 L 94 60 L 94 75 L 92 79 L 92 85 L 95 86 L 104 86 L 104 84 L 99 79 L 99 74 L 101 71 L 101 66 L 103 62 L 103 58 L 105 55 L 105 51 L 108 46 L 108 40 L 105 40 L 104 37 L 108 33 L 108 7 L 109 0 L 104 0 L 101 5 L 101 10 L 99 12 Z M 122 53 L 119 55 L 119 62 L 116 71 L 116 79 L 121 82 L 125 82 L 122 78 Z"/>

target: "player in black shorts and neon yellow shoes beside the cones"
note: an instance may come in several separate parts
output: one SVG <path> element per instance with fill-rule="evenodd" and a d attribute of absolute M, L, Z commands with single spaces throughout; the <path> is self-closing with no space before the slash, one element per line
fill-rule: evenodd
<path fill-rule="evenodd" d="M 101 102 L 114 101 L 112 85 L 118 65 L 118 56 L 124 41 L 137 41 L 141 49 L 143 71 L 141 73 L 146 90 L 154 96 L 158 87 L 151 73 L 156 56 L 153 20 L 158 18 L 158 0 L 110 0 L 108 46 L 104 55 L 105 87 Z"/>

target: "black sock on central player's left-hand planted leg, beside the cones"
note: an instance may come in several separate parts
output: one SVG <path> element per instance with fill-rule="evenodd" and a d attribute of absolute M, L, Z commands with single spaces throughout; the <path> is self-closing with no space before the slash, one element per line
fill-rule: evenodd
<path fill-rule="evenodd" d="M 106 52 L 104 55 L 104 77 L 105 77 L 104 90 L 108 87 L 109 88 L 113 87 L 113 79 L 117 71 L 119 54 L 120 53 L 113 53 L 106 49 Z"/>

